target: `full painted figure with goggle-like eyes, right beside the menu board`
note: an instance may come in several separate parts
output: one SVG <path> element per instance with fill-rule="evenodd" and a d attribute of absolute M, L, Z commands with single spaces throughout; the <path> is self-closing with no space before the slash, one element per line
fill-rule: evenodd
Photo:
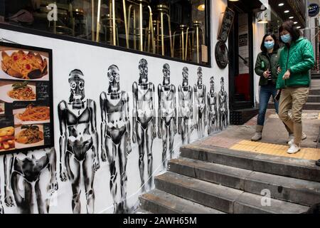
<path fill-rule="evenodd" d="M 95 209 L 93 180 L 100 168 L 96 105 L 85 99 L 85 79 L 80 70 L 70 72 L 70 98 L 58 105 L 60 122 L 60 179 L 72 185 L 73 213 L 81 212 L 80 193 L 82 178 L 85 183 L 87 213 Z"/>

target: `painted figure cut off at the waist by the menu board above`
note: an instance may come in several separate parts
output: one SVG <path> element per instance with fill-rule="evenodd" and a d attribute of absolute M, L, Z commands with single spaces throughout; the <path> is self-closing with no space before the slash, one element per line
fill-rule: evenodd
<path fill-rule="evenodd" d="M 21 214 L 47 214 L 50 195 L 58 190 L 56 153 L 43 152 L 4 155 L 4 202 L 18 207 Z M 22 185 L 21 185 L 22 183 Z"/>

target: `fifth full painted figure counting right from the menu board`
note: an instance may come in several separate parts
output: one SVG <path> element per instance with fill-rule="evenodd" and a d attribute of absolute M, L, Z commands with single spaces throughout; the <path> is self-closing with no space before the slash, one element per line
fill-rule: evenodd
<path fill-rule="evenodd" d="M 193 131 L 193 90 L 188 82 L 188 68 L 182 70 L 182 85 L 178 86 L 178 133 L 183 144 L 190 143 Z"/>

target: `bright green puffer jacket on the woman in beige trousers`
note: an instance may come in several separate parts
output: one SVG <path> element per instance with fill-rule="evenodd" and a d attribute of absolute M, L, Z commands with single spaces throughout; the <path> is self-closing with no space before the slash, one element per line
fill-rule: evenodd
<path fill-rule="evenodd" d="M 282 72 L 277 79 L 277 89 L 286 87 L 309 87 L 309 70 L 314 67 L 314 48 L 306 38 L 299 38 L 288 48 L 284 46 L 279 56 Z M 289 79 L 282 79 L 284 73 L 291 72 Z"/>

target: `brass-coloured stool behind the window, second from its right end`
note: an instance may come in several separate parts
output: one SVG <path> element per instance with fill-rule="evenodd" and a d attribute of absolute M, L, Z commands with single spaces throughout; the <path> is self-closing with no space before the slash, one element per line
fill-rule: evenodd
<path fill-rule="evenodd" d="M 174 50 L 178 53 L 178 58 L 182 60 L 186 60 L 186 56 L 188 53 L 188 40 L 190 39 L 188 36 L 189 28 L 185 24 L 181 24 L 178 28 L 178 31 L 174 32 Z M 176 48 L 176 39 L 178 41 L 178 48 Z M 190 41 L 189 41 L 190 42 Z"/>

